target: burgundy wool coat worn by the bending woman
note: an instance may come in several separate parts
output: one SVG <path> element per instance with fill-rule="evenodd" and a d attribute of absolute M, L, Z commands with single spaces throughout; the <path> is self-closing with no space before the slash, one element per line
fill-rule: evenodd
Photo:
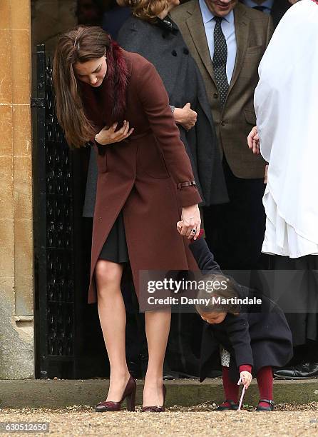
<path fill-rule="evenodd" d="M 189 240 L 179 235 L 176 223 L 183 206 L 202 199 L 191 184 L 193 171 L 168 95 L 153 64 L 138 54 L 118 50 L 128 77 L 124 119 L 135 130 L 120 143 L 94 145 L 98 182 L 88 303 L 97 300 L 96 263 L 120 211 L 137 296 L 140 270 L 198 269 Z M 110 125 L 105 120 L 101 123 L 100 118 L 103 104 L 107 105 L 103 86 L 92 93 L 92 87 L 84 84 L 83 101 L 86 114 L 98 129 Z"/>

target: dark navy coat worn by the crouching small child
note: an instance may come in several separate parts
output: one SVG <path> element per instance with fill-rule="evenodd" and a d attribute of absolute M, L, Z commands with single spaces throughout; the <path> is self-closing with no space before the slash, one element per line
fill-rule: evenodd
<path fill-rule="evenodd" d="M 205 240 L 190 244 L 202 273 L 222 273 Z M 236 283 L 239 298 L 262 298 L 260 306 L 242 306 L 238 316 L 227 313 L 218 324 L 205 323 L 202 333 L 200 381 L 220 368 L 220 345 L 230 352 L 230 377 L 237 381 L 239 367 L 250 364 L 256 376 L 264 366 L 282 367 L 292 358 L 292 333 L 277 304 L 266 296 Z"/>

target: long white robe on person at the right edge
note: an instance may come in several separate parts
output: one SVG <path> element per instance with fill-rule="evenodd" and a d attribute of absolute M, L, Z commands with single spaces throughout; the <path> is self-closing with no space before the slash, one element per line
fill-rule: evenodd
<path fill-rule="evenodd" d="M 318 254 L 318 4 L 302 0 L 280 21 L 255 90 L 261 154 L 269 162 L 262 251 Z"/>

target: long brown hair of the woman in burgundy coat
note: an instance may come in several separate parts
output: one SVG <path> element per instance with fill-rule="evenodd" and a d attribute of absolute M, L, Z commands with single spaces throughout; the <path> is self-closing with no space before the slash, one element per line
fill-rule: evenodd
<path fill-rule="evenodd" d="M 96 134 L 88 120 L 73 66 L 105 55 L 111 39 L 100 27 L 76 26 L 58 39 L 53 61 L 56 116 L 68 145 L 81 147 Z"/>

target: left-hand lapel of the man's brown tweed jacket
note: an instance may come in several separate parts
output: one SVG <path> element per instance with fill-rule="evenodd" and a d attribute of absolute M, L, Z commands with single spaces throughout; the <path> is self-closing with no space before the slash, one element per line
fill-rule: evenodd
<path fill-rule="evenodd" d="M 198 54 L 205 65 L 208 73 L 211 76 L 212 81 L 215 84 L 212 61 L 210 56 L 209 46 L 207 45 L 207 38 L 205 35 L 205 27 L 202 21 L 202 15 L 200 10 L 199 2 L 195 2 L 190 4 L 193 8 L 188 9 L 188 13 L 190 17 L 186 20 L 186 24 L 188 26 L 191 38 L 193 39 L 193 43 L 198 50 Z M 215 84 L 216 86 L 216 84 Z"/>

